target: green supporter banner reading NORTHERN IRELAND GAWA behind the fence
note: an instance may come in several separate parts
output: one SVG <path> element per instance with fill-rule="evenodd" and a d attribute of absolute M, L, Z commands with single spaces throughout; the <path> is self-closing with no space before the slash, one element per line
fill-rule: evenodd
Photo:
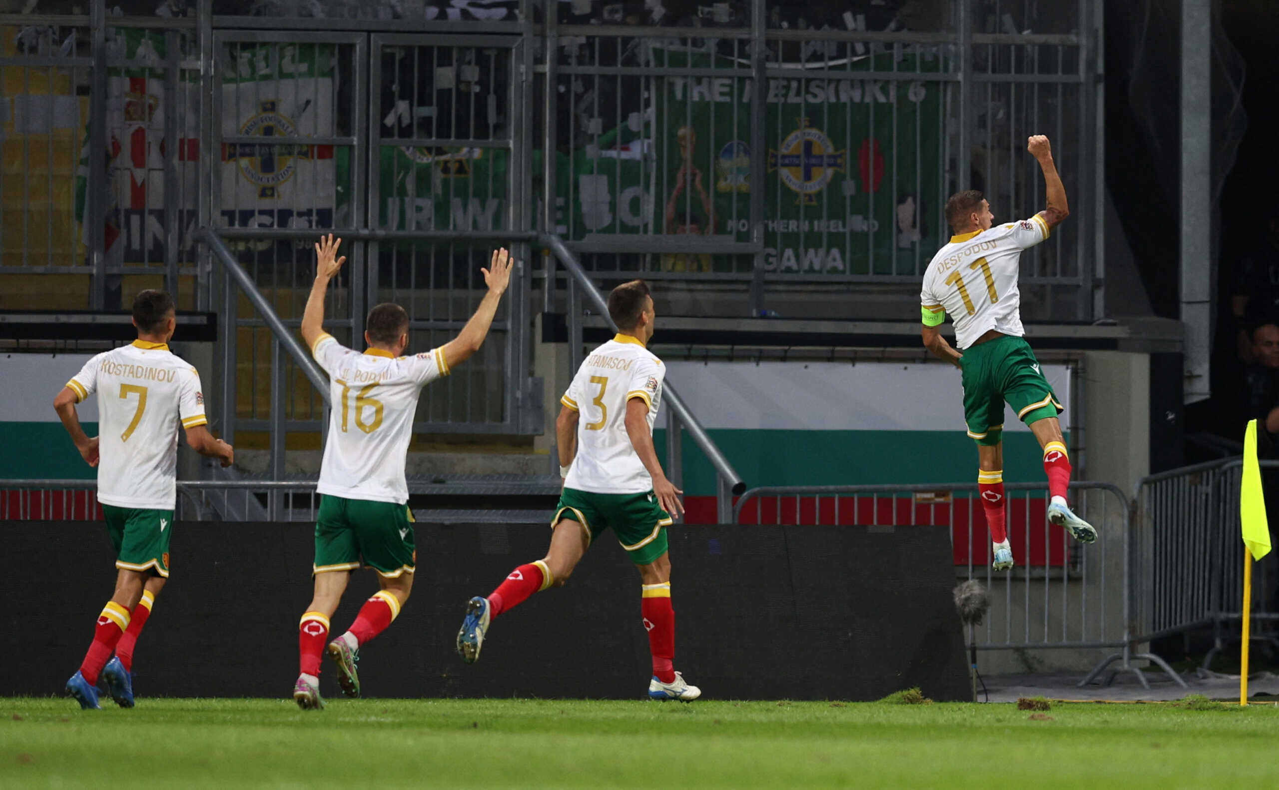
<path fill-rule="evenodd" d="M 751 164 L 765 160 L 765 265 L 804 274 L 913 272 L 940 244 L 941 82 L 859 79 L 894 55 L 829 64 L 822 77 L 773 78 L 765 151 L 751 151 L 753 86 L 744 77 L 659 77 L 654 105 L 592 144 L 560 156 L 572 238 L 688 234 L 748 242 Z M 741 69 L 705 51 L 657 50 L 670 69 Z M 826 65 L 826 64 L 824 64 Z M 939 72 L 912 52 L 898 72 Z M 848 78 L 830 78 L 838 69 Z M 565 165 L 570 165 L 570 169 Z M 569 217 L 561 213 L 563 220 Z M 663 268 L 712 271 L 732 259 L 663 256 Z"/>

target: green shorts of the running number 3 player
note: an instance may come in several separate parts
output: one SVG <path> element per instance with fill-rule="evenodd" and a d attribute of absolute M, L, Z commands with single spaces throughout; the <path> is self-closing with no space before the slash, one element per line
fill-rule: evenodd
<path fill-rule="evenodd" d="M 613 528 L 618 542 L 636 565 L 648 565 L 666 554 L 666 527 L 670 514 L 661 509 L 657 496 L 648 493 L 595 493 L 564 488 L 555 505 L 551 527 L 561 518 L 586 527 L 587 542 Z"/>

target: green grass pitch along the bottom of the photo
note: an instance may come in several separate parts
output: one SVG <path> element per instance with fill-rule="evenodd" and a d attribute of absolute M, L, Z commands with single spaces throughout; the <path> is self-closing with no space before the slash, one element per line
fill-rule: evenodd
<path fill-rule="evenodd" d="M 1276 732 L 1273 706 L 0 698 L 0 787 L 1274 787 Z"/>

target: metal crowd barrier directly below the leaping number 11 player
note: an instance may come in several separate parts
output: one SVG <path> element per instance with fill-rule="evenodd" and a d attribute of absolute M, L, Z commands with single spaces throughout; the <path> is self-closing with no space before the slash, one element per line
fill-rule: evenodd
<path fill-rule="evenodd" d="M 1041 483 L 1005 483 L 1004 490 L 1018 562 L 1007 573 L 990 568 L 994 557 L 976 483 L 760 487 L 742 495 L 733 511 L 738 523 L 945 525 L 957 577 L 980 580 L 990 594 L 985 623 L 969 628 L 977 649 L 1119 648 L 1083 683 L 1120 661 L 1109 679 L 1132 671 L 1145 685 L 1137 660 L 1152 661 L 1177 679 L 1157 656 L 1137 649 L 1129 625 L 1132 547 L 1123 491 L 1109 483 L 1071 483 L 1076 513 L 1100 533 L 1095 545 L 1081 546 L 1049 525 Z"/>

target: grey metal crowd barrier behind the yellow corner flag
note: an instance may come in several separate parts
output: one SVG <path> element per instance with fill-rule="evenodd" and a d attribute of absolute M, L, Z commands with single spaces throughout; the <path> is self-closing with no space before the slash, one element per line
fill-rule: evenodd
<path fill-rule="evenodd" d="M 1261 461 L 1267 493 L 1279 461 Z M 1133 621 L 1142 642 L 1211 628 L 1209 669 L 1225 643 L 1227 624 L 1242 619 L 1243 542 L 1239 487 L 1243 461 L 1209 461 L 1142 478 L 1134 497 Z M 1275 496 L 1269 496 L 1274 502 Z M 1279 648 L 1279 568 L 1267 556 L 1253 573 L 1252 639 Z"/>

